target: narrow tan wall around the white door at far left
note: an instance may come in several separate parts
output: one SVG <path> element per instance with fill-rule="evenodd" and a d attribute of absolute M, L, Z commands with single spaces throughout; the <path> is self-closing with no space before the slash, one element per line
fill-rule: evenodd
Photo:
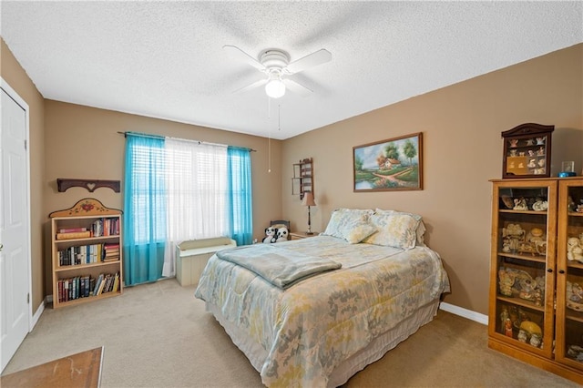
<path fill-rule="evenodd" d="M 43 208 L 43 189 L 46 186 L 44 99 L 2 38 L 0 38 L 0 74 L 6 83 L 18 93 L 18 96 L 26 101 L 29 109 L 31 300 L 33 312 L 35 312 L 45 298 L 42 230 L 42 224 L 46 217 Z"/>

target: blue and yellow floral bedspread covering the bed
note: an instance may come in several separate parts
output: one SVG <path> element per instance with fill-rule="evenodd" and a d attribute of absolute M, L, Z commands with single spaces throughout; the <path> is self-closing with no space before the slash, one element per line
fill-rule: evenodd
<path fill-rule="evenodd" d="M 261 380 L 270 387 L 325 386 L 340 362 L 449 291 L 442 262 L 427 247 L 398 250 L 329 236 L 278 244 L 342 268 L 283 291 L 215 255 L 195 291 L 261 344 Z"/>

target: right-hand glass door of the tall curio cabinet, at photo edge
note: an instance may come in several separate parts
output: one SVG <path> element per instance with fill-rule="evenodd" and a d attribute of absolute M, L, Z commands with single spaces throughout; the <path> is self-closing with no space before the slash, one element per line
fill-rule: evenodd
<path fill-rule="evenodd" d="M 583 370 L 583 179 L 559 181 L 556 359 Z"/>

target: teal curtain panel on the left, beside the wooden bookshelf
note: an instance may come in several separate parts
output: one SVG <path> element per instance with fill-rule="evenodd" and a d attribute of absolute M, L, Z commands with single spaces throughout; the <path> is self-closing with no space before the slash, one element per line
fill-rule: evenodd
<path fill-rule="evenodd" d="M 124 281 L 134 285 L 162 277 L 167 194 L 164 138 L 126 133 L 124 181 Z"/>

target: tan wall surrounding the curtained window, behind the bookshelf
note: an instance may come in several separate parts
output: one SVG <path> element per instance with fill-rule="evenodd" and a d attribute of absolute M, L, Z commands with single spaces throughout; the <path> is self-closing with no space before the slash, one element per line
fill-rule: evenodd
<path fill-rule="evenodd" d="M 174 138 L 256 149 L 251 153 L 254 237 L 261 239 L 271 219 L 281 217 L 281 141 L 271 140 L 271 173 L 268 172 L 268 139 L 239 133 L 180 124 L 46 100 L 46 213 L 67 209 L 77 200 L 99 199 L 105 206 L 123 209 L 125 138 L 118 132 L 134 131 Z M 59 193 L 56 179 L 114 179 L 122 181 L 120 193 L 101 188 L 71 188 Z M 47 225 L 46 225 L 47 228 Z M 46 259 L 47 265 L 50 258 Z M 50 290 L 50 274 L 46 276 Z"/>

